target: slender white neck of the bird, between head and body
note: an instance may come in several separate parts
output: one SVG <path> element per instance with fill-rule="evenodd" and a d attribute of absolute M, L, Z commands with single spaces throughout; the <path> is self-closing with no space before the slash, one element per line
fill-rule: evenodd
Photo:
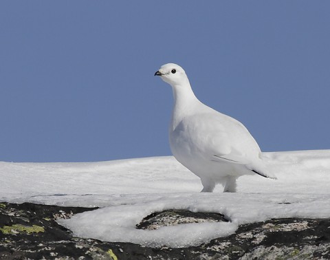
<path fill-rule="evenodd" d="M 175 129 L 177 124 L 179 124 L 184 117 L 195 111 L 196 105 L 200 102 L 192 91 L 189 81 L 184 85 L 173 85 L 172 89 L 174 107 L 172 112 L 171 128 Z"/>

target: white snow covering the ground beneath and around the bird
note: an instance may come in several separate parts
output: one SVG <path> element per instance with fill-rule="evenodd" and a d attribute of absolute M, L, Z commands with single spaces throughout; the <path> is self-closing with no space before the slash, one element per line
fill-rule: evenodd
<path fill-rule="evenodd" d="M 230 235 L 240 224 L 281 217 L 330 217 L 330 150 L 263 153 L 278 180 L 238 180 L 238 193 L 199 193 L 199 178 L 173 157 L 89 163 L 0 162 L 0 201 L 98 206 L 61 221 L 80 237 L 182 247 Z M 230 222 L 137 230 L 151 213 L 214 212 Z"/>

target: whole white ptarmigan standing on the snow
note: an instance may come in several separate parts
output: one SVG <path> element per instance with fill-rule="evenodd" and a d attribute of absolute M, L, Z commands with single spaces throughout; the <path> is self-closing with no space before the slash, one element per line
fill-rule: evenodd
<path fill-rule="evenodd" d="M 223 184 L 224 192 L 236 192 L 236 178 L 267 174 L 261 149 L 241 122 L 200 102 L 186 72 L 168 63 L 155 72 L 173 89 L 174 107 L 169 127 L 170 149 L 175 158 L 201 178 L 201 192 Z"/>

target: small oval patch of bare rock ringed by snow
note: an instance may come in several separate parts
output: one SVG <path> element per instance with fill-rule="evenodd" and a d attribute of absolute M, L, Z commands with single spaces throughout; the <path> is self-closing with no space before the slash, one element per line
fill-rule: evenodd
<path fill-rule="evenodd" d="M 195 213 L 189 210 L 164 210 L 144 217 L 144 219 L 136 225 L 136 228 L 155 230 L 162 226 L 221 221 L 228 222 L 228 219 L 225 219 L 225 216 L 219 213 Z"/>

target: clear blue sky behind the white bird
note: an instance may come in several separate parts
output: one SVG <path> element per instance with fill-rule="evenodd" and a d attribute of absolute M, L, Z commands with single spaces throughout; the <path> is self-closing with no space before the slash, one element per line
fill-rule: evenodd
<path fill-rule="evenodd" d="M 170 86 L 263 151 L 330 149 L 330 1 L 1 1 L 0 161 L 170 155 Z"/>

